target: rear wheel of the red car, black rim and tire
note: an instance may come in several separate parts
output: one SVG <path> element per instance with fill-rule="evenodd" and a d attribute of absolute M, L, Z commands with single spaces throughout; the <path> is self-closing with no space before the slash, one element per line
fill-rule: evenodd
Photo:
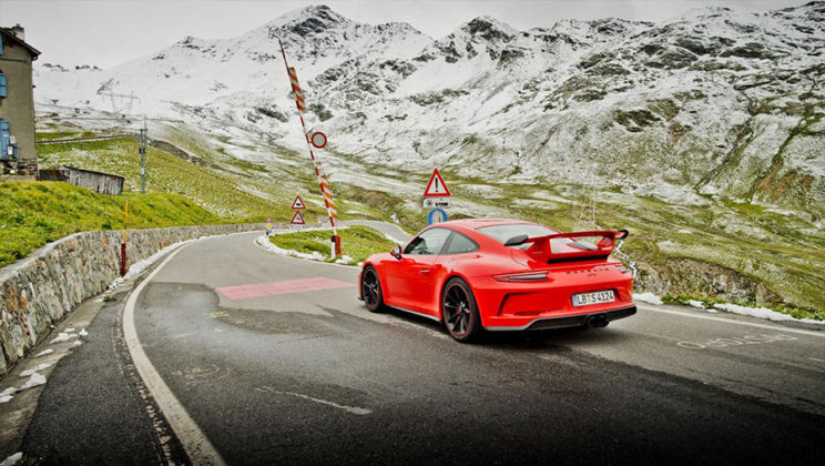
<path fill-rule="evenodd" d="M 481 328 L 478 304 L 464 280 L 455 277 L 447 281 L 441 293 L 441 315 L 447 332 L 457 342 L 468 343 L 478 336 Z"/>

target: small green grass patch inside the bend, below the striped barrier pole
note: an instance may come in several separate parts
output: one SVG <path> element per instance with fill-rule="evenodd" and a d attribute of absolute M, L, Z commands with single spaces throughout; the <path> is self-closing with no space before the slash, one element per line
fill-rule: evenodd
<path fill-rule="evenodd" d="M 304 254 L 317 252 L 324 257 L 329 257 L 332 230 L 318 230 L 301 233 L 301 246 L 298 247 L 297 233 L 275 234 L 269 241 L 284 250 L 297 251 Z M 364 262 L 370 254 L 388 252 L 395 243 L 387 240 L 381 233 L 367 226 L 350 226 L 338 230 L 340 236 L 342 253 L 353 257 L 356 263 Z"/>

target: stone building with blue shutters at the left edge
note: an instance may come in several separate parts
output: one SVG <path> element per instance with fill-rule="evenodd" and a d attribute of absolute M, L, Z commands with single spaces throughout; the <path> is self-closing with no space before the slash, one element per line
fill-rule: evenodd
<path fill-rule="evenodd" d="M 0 28 L 0 171 L 35 175 L 34 87 L 31 63 L 40 51 L 23 28 Z"/>

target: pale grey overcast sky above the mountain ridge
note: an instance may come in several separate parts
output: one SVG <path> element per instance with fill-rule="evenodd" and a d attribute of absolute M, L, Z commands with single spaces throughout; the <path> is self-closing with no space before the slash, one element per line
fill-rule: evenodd
<path fill-rule="evenodd" d="M 20 23 L 43 62 L 110 68 L 166 48 L 186 36 L 241 36 L 288 11 L 327 4 L 345 17 L 377 24 L 405 21 L 440 39 L 479 16 L 517 29 L 551 27 L 561 19 L 618 17 L 662 21 L 693 8 L 723 6 L 766 11 L 807 0 L 512 0 L 512 1 L 281 1 L 281 0 L 0 0 L 0 26 Z"/>

